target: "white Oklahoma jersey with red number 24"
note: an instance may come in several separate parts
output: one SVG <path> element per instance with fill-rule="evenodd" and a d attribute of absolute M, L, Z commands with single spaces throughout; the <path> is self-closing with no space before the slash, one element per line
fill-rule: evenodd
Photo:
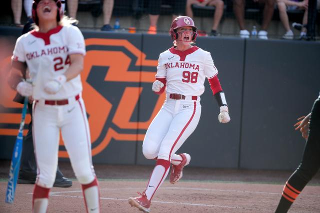
<path fill-rule="evenodd" d="M 68 69 L 70 54 L 85 54 L 83 35 L 73 25 L 59 25 L 46 33 L 32 30 L 16 40 L 12 59 L 26 62 L 33 99 L 59 100 L 81 93 L 80 75 L 65 82 L 56 94 L 44 91 L 45 83 Z"/>

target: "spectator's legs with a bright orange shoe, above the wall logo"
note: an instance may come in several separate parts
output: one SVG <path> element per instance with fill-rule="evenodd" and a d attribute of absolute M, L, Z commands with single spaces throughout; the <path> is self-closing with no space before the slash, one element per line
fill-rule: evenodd
<path fill-rule="evenodd" d="M 172 20 L 174 20 L 177 16 L 182 15 L 185 10 L 186 0 L 174 0 L 168 1 L 172 2 L 173 6 L 173 14 Z M 161 9 L 161 0 L 149 0 L 148 4 L 148 12 L 149 12 L 149 20 L 150 26 L 148 29 L 148 34 L 156 34 L 156 24 L 159 19 L 160 9 Z"/>

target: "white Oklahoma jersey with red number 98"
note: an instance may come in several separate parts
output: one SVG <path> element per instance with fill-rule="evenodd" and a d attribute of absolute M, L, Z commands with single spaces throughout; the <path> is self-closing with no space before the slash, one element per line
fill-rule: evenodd
<path fill-rule="evenodd" d="M 166 79 L 166 92 L 199 96 L 204 92 L 205 78 L 217 73 L 211 54 L 193 46 L 185 51 L 174 47 L 159 56 L 156 78 Z"/>

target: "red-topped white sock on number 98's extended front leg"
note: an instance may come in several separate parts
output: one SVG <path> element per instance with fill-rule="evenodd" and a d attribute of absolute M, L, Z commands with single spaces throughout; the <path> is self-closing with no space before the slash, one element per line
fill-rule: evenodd
<path fill-rule="evenodd" d="M 165 177 L 168 174 L 169 167 L 170 167 L 169 161 L 163 160 L 163 159 L 156 160 L 155 167 L 152 171 L 151 177 L 145 189 L 145 195 L 149 201 L 152 199 L 156 190 L 163 183 Z"/>

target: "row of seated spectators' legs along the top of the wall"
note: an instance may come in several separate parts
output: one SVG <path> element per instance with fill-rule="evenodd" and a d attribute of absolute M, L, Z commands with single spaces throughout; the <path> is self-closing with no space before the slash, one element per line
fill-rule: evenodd
<path fill-rule="evenodd" d="M 113 28 L 110 25 L 110 18 L 112 15 L 114 0 L 65 0 L 67 6 L 67 15 L 71 18 L 76 19 L 76 13 L 78 9 L 78 3 L 81 1 L 85 2 L 98 2 L 101 3 L 102 12 L 103 12 L 103 25 L 101 26 L 102 31 L 112 31 Z M 172 20 L 178 15 L 186 15 L 193 18 L 193 7 L 197 6 L 197 8 L 205 8 L 211 7 L 214 8 L 213 21 L 211 32 L 209 35 L 217 36 L 219 35 L 217 28 L 219 26 L 220 20 L 222 18 L 223 12 L 225 12 L 225 4 L 227 4 L 227 0 L 132 0 L 132 3 L 141 1 L 143 5 L 145 5 L 145 12 L 149 17 L 149 28 L 147 33 L 156 34 L 157 32 L 157 21 L 160 15 L 161 5 L 163 3 L 168 3 L 172 7 Z M 230 5 L 233 9 L 233 15 L 236 18 L 236 21 L 239 26 L 239 35 L 242 38 L 250 37 L 250 32 L 245 28 L 245 8 L 246 8 L 246 0 L 230 0 Z M 249 0 L 248 0 L 249 1 Z M 303 18 L 300 21 L 301 24 L 296 24 L 295 22 L 292 26 L 298 30 L 300 30 L 300 39 L 303 39 L 306 35 L 306 23 L 307 23 L 307 8 L 308 8 L 308 0 L 250 0 L 259 5 L 263 5 L 262 12 L 262 22 L 259 30 L 257 31 L 257 38 L 260 39 L 268 39 L 267 29 L 272 20 L 274 9 L 277 8 L 279 13 L 279 19 L 283 24 L 285 34 L 282 36 L 283 39 L 293 39 L 293 32 L 290 28 L 289 18 L 287 15 L 288 10 L 300 10 L 304 11 Z M 319 0 L 318 0 L 319 1 Z M 24 7 L 24 11 L 27 15 L 27 23 L 28 26 L 33 23 L 31 18 L 31 7 L 32 0 L 11 0 L 11 8 L 14 16 L 14 24 L 16 26 L 21 25 L 21 10 L 22 4 Z M 319 5 L 318 3 L 317 5 Z M 62 4 L 63 6 L 65 4 Z M 63 7 L 65 9 L 65 7 Z M 77 22 L 74 22 L 76 25 Z"/>

